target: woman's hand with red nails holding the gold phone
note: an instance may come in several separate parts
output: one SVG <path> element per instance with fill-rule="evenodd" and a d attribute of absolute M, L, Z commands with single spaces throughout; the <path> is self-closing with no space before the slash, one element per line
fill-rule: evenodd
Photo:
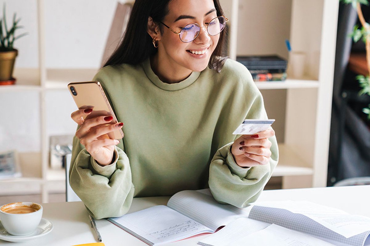
<path fill-rule="evenodd" d="M 100 166 L 106 166 L 112 163 L 114 146 L 120 143 L 116 139 L 110 139 L 108 133 L 122 128 L 123 123 L 106 126 L 105 124 L 112 121 L 112 116 L 98 116 L 84 120 L 84 117 L 91 112 L 92 108 L 83 108 L 71 114 L 71 118 L 80 125 L 76 131 L 76 137 Z"/>

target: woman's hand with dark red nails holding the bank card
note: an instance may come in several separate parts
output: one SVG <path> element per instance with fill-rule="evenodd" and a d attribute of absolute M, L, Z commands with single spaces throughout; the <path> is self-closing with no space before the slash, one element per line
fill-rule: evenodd
<path fill-rule="evenodd" d="M 270 162 L 272 143 L 268 138 L 275 136 L 270 128 L 255 135 L 242 135 L 232 144 L 231 153 L 241 167 L 266 165 Z"/>

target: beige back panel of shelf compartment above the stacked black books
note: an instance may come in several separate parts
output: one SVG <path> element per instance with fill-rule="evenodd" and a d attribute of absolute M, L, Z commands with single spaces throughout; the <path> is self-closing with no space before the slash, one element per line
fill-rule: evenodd
<path fill-rule="evenodd" d="M 239 0 L 238 55 L 288 58 L 285 39 L 290 38 L 291 10 L 292 0 Z"/>

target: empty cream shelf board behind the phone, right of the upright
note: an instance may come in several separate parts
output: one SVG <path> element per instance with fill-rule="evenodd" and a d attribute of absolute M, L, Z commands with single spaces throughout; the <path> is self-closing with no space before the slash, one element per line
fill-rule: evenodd
<path fill-rule="evenodd" d="M 91 81 L 98 69 L 47 69 L 46 89 L 67 89 L 68 83 Z"/>

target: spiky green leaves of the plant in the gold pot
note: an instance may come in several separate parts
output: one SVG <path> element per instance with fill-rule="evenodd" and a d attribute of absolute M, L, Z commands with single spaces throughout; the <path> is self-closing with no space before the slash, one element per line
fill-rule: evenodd
<path fill-rule="evenodd" d="M 17 39 L 27 35 L 27 33 L 20 34 L 15 36 L 15 32 L 18 29 L 23 28 L 23 26 L 19 25 L 21 18 L 16 18 L 16 13 L 13 15 L 13 24 L 11 25 L 10 29 L 7 27 L 6 22 L 6 11 L 5 11 L 5 3 L 3 6 L 3 18 L 0 19 L 0 52 L 4 51 L 12 51 L 14 50 L 13 45 L 14 41 Z"/>

